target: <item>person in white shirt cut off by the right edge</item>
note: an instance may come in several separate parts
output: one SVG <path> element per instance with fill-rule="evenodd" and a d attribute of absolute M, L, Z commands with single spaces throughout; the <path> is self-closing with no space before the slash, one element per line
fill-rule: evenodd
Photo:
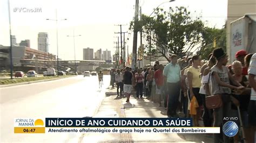
<path fill-rule="evenodd" d="M 251 101 L 248 106 L 248 121 L 251 126 L 250 139 L 247 142 L 255 142 L 254 134 L 256 131 L 256 54 L 252 55 L 250 66 L 248 68 L 248 81 L 251 85 Z"/>

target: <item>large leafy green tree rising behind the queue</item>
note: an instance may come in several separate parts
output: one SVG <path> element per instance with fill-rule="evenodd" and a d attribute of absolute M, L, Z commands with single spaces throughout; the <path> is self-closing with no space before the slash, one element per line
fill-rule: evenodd
<path fill-rule="evenodd" d="M 164 56 L 169 60 L 168 53 L 181 58 L 198 49 L 203 42 L 201 35 L 205 26 L 200 18 L 192 19 L 190 12 L 181 6 L 175 11 L 172 8 L 169 11 L 157 9 L 153 17 L 143 15 L 135 26 L 131 22 L 130 28 L 142 30 L 146 39 L 145 54 Z"/>

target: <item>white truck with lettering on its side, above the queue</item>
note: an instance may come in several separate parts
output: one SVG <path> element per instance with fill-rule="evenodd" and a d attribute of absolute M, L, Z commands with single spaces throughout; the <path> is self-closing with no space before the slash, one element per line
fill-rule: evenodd
<path fill-rule="evenodd" d="M 248 13 L 231 23 L 230 60 L 235 61 L 235 53 L 244 49 L 256 53 L 256 13 Z"/>

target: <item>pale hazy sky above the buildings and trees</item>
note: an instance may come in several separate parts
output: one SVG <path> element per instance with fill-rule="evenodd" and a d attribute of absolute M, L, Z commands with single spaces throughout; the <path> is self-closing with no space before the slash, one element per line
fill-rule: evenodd
<path fill-rule="evenodd" d="M 167 0 L 140 0 L 142 13 L 150 15 L 154 8 Z M 58 11 L 58 19 L 68 19 L 58 22 L 58 44 L 59 58 L 72 60 L 73 38 L 66 37 L 72 35 L 75 29 L 75 35 L 82 35 L 75 39 L 76 58 L 83 59 L 83 48 L 111 50 L 114 54 L 117 36 L 120 27 L 114 26 L 123 24 L 123 32 L 128 30 L 129 23 L 134 17 L 135 0 L 10 0 L 11 28 L 12 35 L 16 36 L 17 43 L 21 40 L 29 39 L 30 47 L 37 49 L 38 32 L 48 32 L 49 34 L 49 52 L 56 54 L 56 22 L 49 19 L 56 19 L 55 10 Z M 207 21 L 207 26 L 221 28 L 227 19 L 227 1 L 225 0 L 176 0 L 171 3 L 164 3 L 160 8 L 185 6 L 192 12 L 192 16 L 202 16 Z M 14 10 L 17 8 L 17 11 Z M 41 8 L 41 12 L 19 12 L 21 9 Z M 24 10 L 24 9 L 23 9 Z M 195 12 L 196 11 L 196 12 Z M 8 18 L 8 0 L 0 1 L 0 45 L 10 45 L 9 18 Z M 129 53 L 132 52 L 132 35 L 127 44 Z M 139 44 L 139 39 L 138 39 Z"/>

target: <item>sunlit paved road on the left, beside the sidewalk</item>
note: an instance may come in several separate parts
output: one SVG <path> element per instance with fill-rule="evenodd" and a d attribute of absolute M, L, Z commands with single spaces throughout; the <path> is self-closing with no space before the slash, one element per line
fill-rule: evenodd
<path fill-rule="evenodd" d="M 0 89 L 0 142 L 66 142 L 75 134 L 14 134 L 14 118 L 93 116 L 102 101 L 110 76 L 99 89 L 96 76 L 76 76 L 56 81 Z"/>

